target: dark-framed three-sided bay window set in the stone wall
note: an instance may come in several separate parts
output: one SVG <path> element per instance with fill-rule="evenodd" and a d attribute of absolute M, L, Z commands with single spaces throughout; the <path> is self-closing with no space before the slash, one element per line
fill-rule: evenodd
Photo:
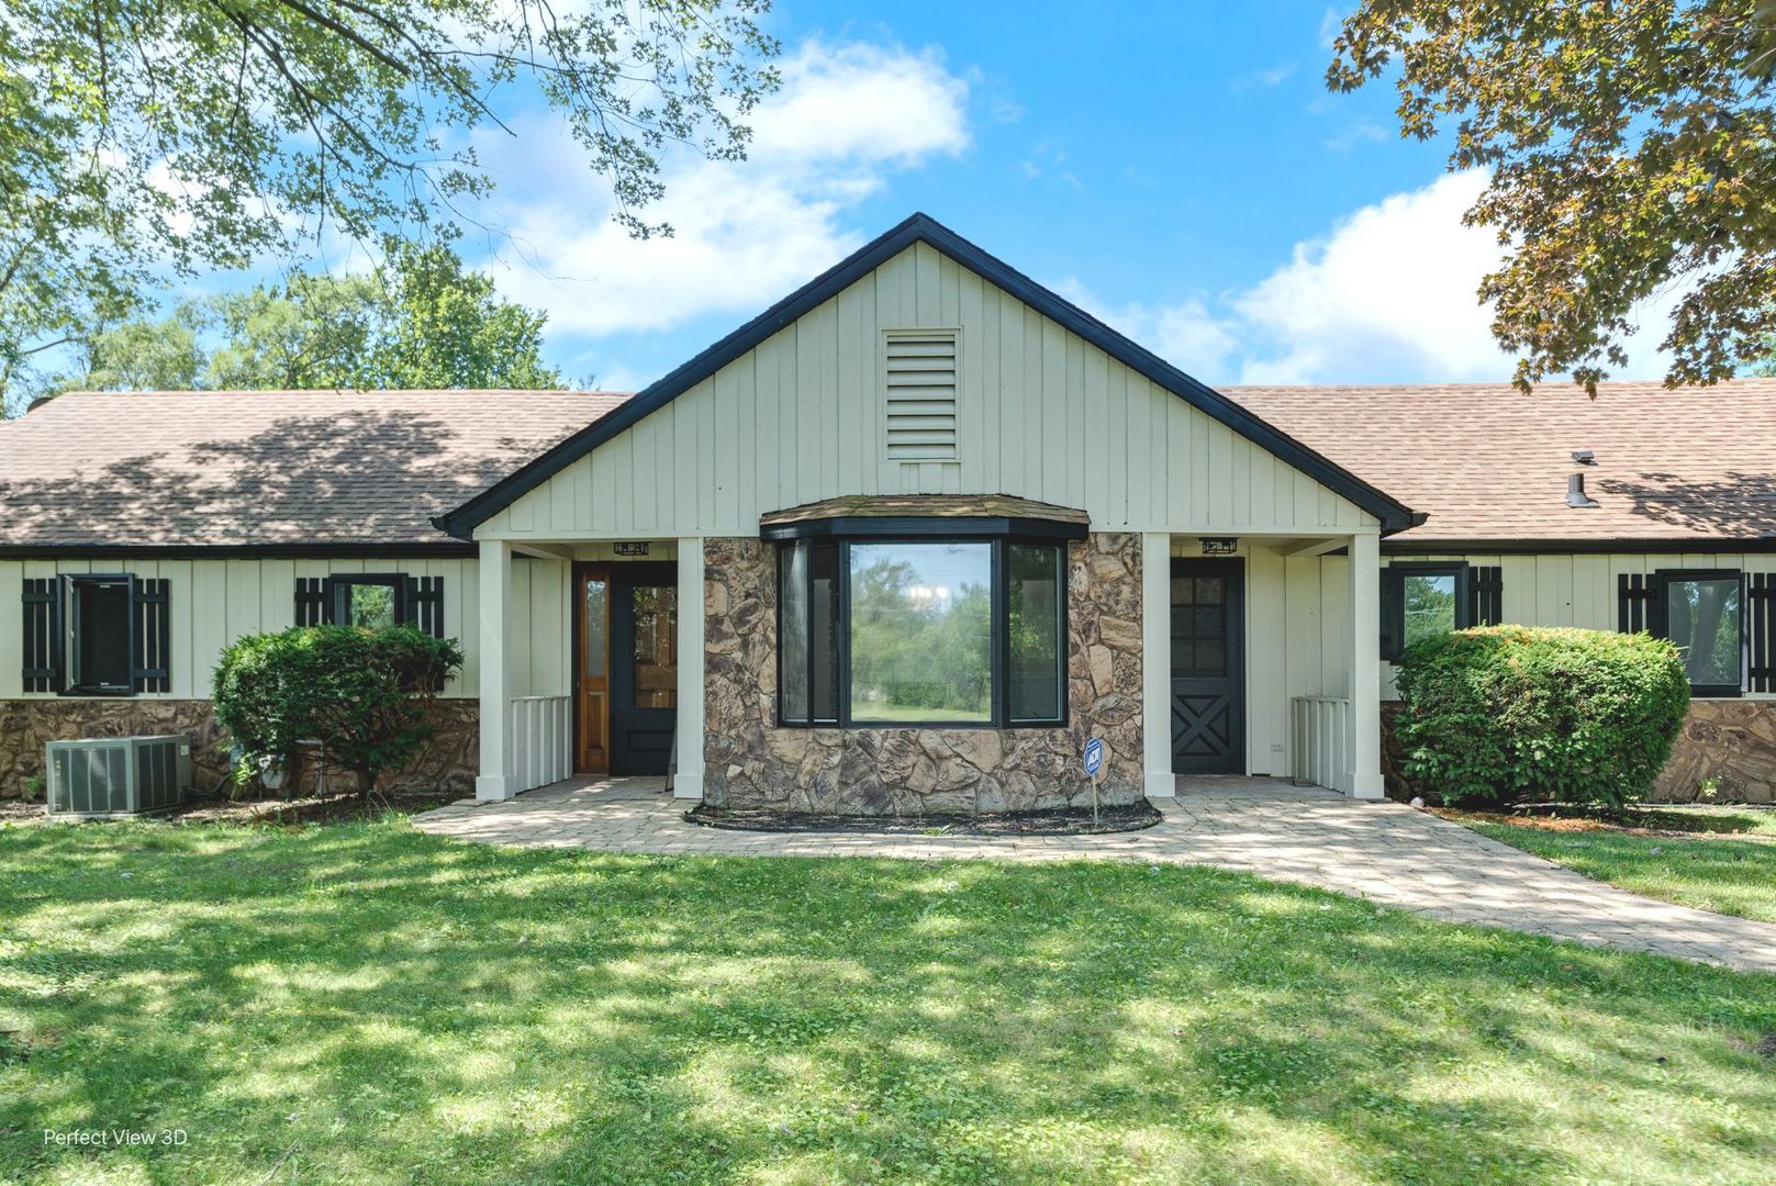
<path fill-rule="evenodd" d="M 780 723 L 1064 724 L 1064 550 L 1011 536 L 783 542 Z"/>

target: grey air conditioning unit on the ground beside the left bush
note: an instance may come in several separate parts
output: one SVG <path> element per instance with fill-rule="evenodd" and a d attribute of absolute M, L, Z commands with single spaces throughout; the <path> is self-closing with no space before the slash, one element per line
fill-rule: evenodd
<path fill-rule="evenodd" d="M 192 739 L 91 737 L 43 747 L 50 815 L 105 818 L 165 811 L 192 785 Z"/>

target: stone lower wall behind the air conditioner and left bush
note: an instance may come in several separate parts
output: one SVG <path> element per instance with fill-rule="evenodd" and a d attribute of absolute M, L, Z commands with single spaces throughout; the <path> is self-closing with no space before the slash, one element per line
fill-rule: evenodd
<path fill-rule="evenodd" d="M 439 700 L 433 721 L 439 731 L 424 753 L 408 769 L 385 774 L 382 787 L 474 792 L 480 707 L 472 700 Z M 0 797 L 23 795 L 25 781 L 43 774 L 44 742 L 156 733 L 190 735 L 192 783 L 199 790 L 210 790 L 227 774 L 227 733 L 208 700 L 0 700 Z M 302 771 L 298 785 L 311 788 L 313 771 Z"/>

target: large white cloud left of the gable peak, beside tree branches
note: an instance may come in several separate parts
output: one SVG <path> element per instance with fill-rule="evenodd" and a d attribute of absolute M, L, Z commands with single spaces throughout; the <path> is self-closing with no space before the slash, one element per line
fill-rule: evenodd
<path fill-rule="evenodd" d="M 854 250 L 842 215 L 892 172 L 970 144 L 968 83 L 934 51 L 808 41 L 781 69 L 744 163 L 666 162 L 666 197 L 643 217 L 671 224 L 671 238 L 638 241 L 613 224 L 607 190 L 559 128 L 483 144 L 513 195 L 499 208 L 520 257 L 504 295 L 545 309 L 552 330 L 590 336 L 751 312 Z"/>

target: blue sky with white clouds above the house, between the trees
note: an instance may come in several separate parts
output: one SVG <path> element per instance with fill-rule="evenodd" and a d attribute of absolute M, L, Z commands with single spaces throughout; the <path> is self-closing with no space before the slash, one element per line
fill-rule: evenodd
<path fill-rule="evenodd" d="M 543 112 L 483 137 L 511 238 L 469 257 L 551 316 L 567 375 L 657 378 L 925 213 L 1211 383 L 1501 380 L 1474 302 L 1483 178 L 1327 92 L 1321 4 L 780 0 L 783 92 L 744 165 L 666 162 L 630 241 Z M 1645 343 L 1643 343 L 1645 344 Z M 1620 376 L 1657 373 L 1636 350 Z"/>

